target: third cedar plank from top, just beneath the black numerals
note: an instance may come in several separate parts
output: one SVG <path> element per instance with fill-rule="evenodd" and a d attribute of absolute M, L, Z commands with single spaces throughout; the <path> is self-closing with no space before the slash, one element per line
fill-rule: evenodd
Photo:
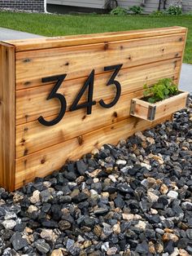
<path fill-rule="evenodd" d="M 142 97 L 142 90 L 122 95 L 113 108 L 102 108 L 99 104 L 86 115 L 86 108 L 67 112 L 56 126 L 42 126 L 38 121 L 16 127 L 16 158 L 27 156 L 68 139 L 84 135 L 93 130 L 111 125 L 129 117 L 133 97 Z M 111 101 L 111 99 L 109 100 Z M 47 120 L 54 117 L 47 118 Z M 76 129 L 78 127 L 78 129 Z"/>

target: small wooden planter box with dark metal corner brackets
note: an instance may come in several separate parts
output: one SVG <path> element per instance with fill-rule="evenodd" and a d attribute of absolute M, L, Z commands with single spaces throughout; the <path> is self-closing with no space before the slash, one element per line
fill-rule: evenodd
<path fill-rule="evenodd" d="M 155 121 L 185 108 L 189 92 L 181 91 L 179 95 L 164 99 L 155 104 L 151 104 L 142 99 L 134 98 L 131 101 L 130 114 L 148 121 Z"/>

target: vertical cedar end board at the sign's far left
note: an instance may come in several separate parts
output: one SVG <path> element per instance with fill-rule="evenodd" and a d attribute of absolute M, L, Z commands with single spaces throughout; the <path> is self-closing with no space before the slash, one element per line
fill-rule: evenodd
<path fill-rule="evenodd" d="M 0 42 L 0 186 L 15 188 L 15 47 Z"/>

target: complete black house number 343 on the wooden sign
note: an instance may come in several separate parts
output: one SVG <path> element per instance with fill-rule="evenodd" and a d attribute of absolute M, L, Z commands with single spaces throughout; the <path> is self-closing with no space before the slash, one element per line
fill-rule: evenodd
<path fill-rule="evenodd" d="M 111 85 L 116 86 L 116 96 L 111 101 L 110 104 L 106 104 L 103 99 L 100 99 L 99 104 L 103 108 L 113 107 L 117 103 L 117 101 L 120 99 L 121 86 L 120 86 L 120 82 L 116 81 L 115 79 L 116 79 L 116 75 L 120 72 L 120 68 L 122 67 L 122 65 L 123 64 L 117 64 L 117 65 L 108 66 L 108 67 L 104 68 L 104 71 L 114 70 L 114 73 L 112 73 L 111 78 L 107 82 L 107 86 L 111 86 Z M 42 117 L 42 116 L 38 117 L 38 121 L 43 126 L 55 126 L 64 117 L 64 114 L 65 114 L 66 108 L 67 108 L 67 102 L 66 102 L 65 96 L 57 93 L 57 90 L 59 90 L 59 87 L 63 83 L 66 76 L 67 76 L 67 74 L 63 74 L 63 75 L 58 75 L 58 76 L 54 76 L 54 77 L 42 78 L 42 82 L 57 81 L 55 86 L 53 87 L 53 89 L 50 91 L 50 95 L 48 95 L 48 97 L 46 99 L 47 100 L 54 99 L 54 98 L 59 99 L 60 105 L 61 105 L 59 115 L 54 120 L 46 121 L 44 117 Z M 85 93 L 85 90 L 87 88 L 88 88 L 87 102 L 85 102 L 83 104 L 78 104 L 82 95 Z M 78 95 L 76 96 L 76 99 L 73 101 L 72 106 L 69 108 L 69 110 L 75 111 L 76 109 L 87 108 L 87 114 L 88 115 L 91 114 L 92 106 L 96 104 L 96 101 L 93 100 L 93 93 L 94 93 L 94 69 L 89 74 L 89 77 L 85 81 L 84 86 L 82 86 L 81 90 L 79 91 Z"/>

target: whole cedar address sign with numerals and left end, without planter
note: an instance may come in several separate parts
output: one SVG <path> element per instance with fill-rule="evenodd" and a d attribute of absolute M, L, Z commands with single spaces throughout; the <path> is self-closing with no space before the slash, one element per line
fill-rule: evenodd
<path fill-rule="evenodd" d="M 131 99 L 178 82 L 186 29 L 0 43 L 0 185 L 20 188 L 103 143 L 170 118 L 131 117 Z"/>

